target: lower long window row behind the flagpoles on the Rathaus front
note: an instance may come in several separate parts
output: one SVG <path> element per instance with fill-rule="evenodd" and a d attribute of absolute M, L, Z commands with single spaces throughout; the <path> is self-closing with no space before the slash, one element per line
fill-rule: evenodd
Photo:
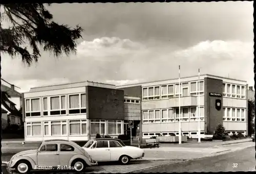
<path fill-rule="evenodd" d="M 200 120 L 204 120 L 204 107 L 190 107 L 176 109 L 156 109 L 142 111 L 143 123 L 160 123 L 160 122 L 179 122 L 181 121 L 198 121 L 198 115 Z M 181 115 L 181 116 L 180 116 Z"/>

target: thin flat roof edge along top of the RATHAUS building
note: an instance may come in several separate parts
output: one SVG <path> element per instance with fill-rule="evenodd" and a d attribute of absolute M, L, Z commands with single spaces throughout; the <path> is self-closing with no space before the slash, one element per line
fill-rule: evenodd
<path fill-rule="evenodd" d="M 188 77 L 182 77 L 180 79 L 187 79 L 187 78 L 194 78 L 194 77 L 198 77 L 198 76 L 188 76 Z M 228 80 L 234 80 L 234 81 L 238 81 L 238 82 L 247 82 L 244 80 L 237 80 L 237 79 L 232 79 L 232 78 L 226 78 L 226 77 L 220 77 L 220 76 L 215 76 L 215 75 L 211 75 L 211 74 L 202 74 L 200 75 L 200 77 L 209 77 L 209 78 L 221 78 L 221 79 L 228 79 Z M 150 82 L 141 82 L 141 83 L 134 83 L 134 84 L 124 84 L 124 85 L 117 85 L 117 88 L 125 88 L 126 86 L 139 86 L 142 84 L 147 84 L 147 83 L 155 83 L 155 82 L 164 82 L 164 81 L 170 81 L 170 80 L 177 80 L 179 78 L 175 78 L 175 79 L 164 79 L 164 80 L 158 80 L 158 81 L 150 81 Z"/>

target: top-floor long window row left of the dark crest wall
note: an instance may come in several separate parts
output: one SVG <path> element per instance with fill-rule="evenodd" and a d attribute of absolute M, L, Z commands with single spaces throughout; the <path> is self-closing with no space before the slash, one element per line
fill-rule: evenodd
<path fill-rule="evenodd" d="M 179 87 L 180 86 L 180 87 Z M 142 88 L 142 100 L 158 100 L 189 95 L 203 95 L 204 82 L 185 82 Z"/>

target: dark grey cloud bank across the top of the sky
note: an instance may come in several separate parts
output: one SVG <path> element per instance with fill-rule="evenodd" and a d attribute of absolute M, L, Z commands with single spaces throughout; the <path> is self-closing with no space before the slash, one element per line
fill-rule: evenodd
<path fill-rule="evenodd" d="M 84 39 L 153 39 L 186 47 L 203 40 L 253 39 L 253 2 L 54 4 L 54 18 L 80 24 Z"/>

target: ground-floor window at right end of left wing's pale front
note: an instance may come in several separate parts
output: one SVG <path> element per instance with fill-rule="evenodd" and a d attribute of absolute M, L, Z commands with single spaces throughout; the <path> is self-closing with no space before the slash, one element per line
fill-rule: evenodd
<path fill-rule="evenodd" d="M 87 120 L 69 120 L 69 135 L 87 135 Z"/>

